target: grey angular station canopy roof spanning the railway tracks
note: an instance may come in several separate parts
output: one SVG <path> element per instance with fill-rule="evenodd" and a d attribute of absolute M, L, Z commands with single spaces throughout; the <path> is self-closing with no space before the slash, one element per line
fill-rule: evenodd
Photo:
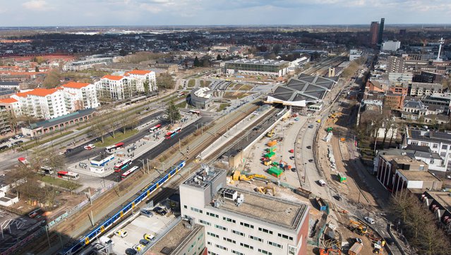
<path fill-rule="evenodd" d="M 322 77 L 301 74 L 291 78 L 286 85 L 280 85 L 267 96 L 268 104 L 305 107 L 323 101 L 327 92 L 334 87 L 338 76 Z"/>

